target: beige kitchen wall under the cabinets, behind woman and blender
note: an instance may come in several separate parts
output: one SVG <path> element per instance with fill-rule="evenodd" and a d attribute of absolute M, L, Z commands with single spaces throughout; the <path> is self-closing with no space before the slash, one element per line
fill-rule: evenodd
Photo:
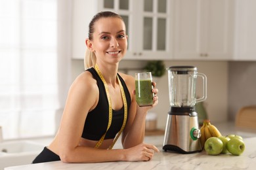
<path fill-rule="evenodd" d="M 146 61 L 121 61 L 120 71 L 134 75 Z M 207 99 L 205 109 L 211 122 L 225 122 L 228 119 L 228 62 L 227 61 L 165 61 L 165 66 L 194 65 L 198 72 L 207 76 Z M 74 79 L 83 71 L 83 60 L 72 60 L 72 78 Z M 151 110 L 158 114 L 158 128 L 164 129 L 167 112 L 169 111 L 169 94 L 167 72 L 161 78 L 156 79 L 159 89 L 159 104 Z M 202 88 L 202 82 L 198 81 L 198 94 Z"/>

